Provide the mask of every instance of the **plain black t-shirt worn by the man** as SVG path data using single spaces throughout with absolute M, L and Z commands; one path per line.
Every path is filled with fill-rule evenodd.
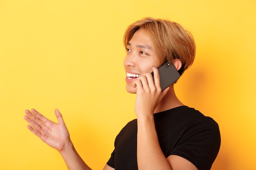
M 198 110 L 180 106 L 154 114 L 162 152 L 167 158 L 178 155 L 198 170 L 210 170 L 220 149 L 220 130 L 216 121 Z M 157 157 L 157 155 L 155 155 Z M 137 119 L 117 135 L 115 150 L 107 164 L 115 170 L 137 170 Z

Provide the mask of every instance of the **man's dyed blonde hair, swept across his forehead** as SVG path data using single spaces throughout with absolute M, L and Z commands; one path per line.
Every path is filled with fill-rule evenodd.
M 149 35 L 153 49 L 160 62 L 180 59 L 182 67 L 180 75 L 189 68 L 195 59 L 195 41 L 191 33 L 180 24 L 169 20 L 143 18 L 136 21 L 124 33 L 124 46 L 126 47 L 132 36 L 139 29 Z

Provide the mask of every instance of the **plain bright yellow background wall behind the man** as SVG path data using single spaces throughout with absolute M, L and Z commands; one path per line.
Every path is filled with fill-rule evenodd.
M 212 170 L 255 170 L 255 0 L 0 0 L 0 170 L 65 170 L 27 129 L 24 110 L 63 114 L 81 157 L 102 169 L 135 118 L 125 90 L 122 38 L 146 16 L 179 22 L 197 44 L 175 85 L 213 117 L 222 144 Z

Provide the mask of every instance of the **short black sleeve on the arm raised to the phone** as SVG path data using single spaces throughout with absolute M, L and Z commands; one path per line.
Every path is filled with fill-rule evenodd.
M 205 117 L 186 129 L 170 155 L 189 160 L 198 170 L 210 170 L 219 149 L 219 126 L 210 117 Z

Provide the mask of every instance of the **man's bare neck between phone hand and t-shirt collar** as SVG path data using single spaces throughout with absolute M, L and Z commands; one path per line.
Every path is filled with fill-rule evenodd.
M 184 104 L 182 104 L 182 102 L 180 102 L 180 100 L 175 95 L 173 84 L 172 84 L 167 94 L 164 96 L 164 98 L 155 108 L 154 113 L 159 113 L 159 112 L 176 108 L 179 106 L 184 106 Z

